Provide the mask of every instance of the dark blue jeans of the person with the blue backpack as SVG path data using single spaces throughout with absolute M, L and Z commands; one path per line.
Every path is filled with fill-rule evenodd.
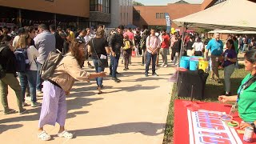
M 37 70 L 29 70 L 25 73 L 18 73 L 19 80 L 22 86 L 22 102 L 25 102 L 26 86 L 30 86 L 31 102 L 37 102 L 36 98 L 36 84 L 37 84 Z

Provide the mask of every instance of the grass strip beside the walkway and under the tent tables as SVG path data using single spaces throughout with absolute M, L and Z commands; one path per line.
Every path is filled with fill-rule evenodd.
M 239 58 L 241 59 L 241 58 Z M 239 62 L 242 63 L 242 62 Z M 225 91 L 224 84 L 224 71 L 219 70 L 220 78 L 222 79 L 222 83 L 218 84 L 218 82 L 209 81 L 210 76 L 208 77 L 206 81 L 206 89 L 205 89 L 205 99 L 202 101 L 204 102 L 218 102 L 218 95 L 222 95 Z M 235 95 L 237 93 L 238 87 L 240 86 L 242 79 L 245 78 L 246 72 L 244 70 L 244 65 L 240 64 L 240 69 L 235 69 L 234 73 L 231 76 L 231 94 Z M 173 127 L 174 127 L 174 100 L 175 99 L 187 99 L 190 98 L 178 98 L 177 95 L 174 92 L 175 90 L 175 84 L 172 90 L 172 97 L 170 100 L 170 107 L 169 107 L 169 114 L 166 121 L 166 131 L 165 136 L 163 140 L 163 144 L 170 144 L 173 143 Z

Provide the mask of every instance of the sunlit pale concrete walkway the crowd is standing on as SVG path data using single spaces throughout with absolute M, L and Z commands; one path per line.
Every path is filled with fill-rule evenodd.
M 86 144 L 162 144 L 172 83 L 173 68 L 158 68 L 159 77 L 144 77 L 141 58 L 133 58 L 130 70 L 119 65 L 120 83 L 109 77 L 103 81 L 104 94 L 97 94 L 94 80 L 76 82 L 66 98 L 66 129 L 75 135 L 58 138 L 58 125 L 45 126 L 49 142 L 37 138 L 41 108 L 30 108 L 29 114 L 3 115 L 0 107 L 0 142 L 11 143 L 86 143 Z M 160 61 L 162 62 L 162 61 Z M 89 70 L 89 69 L 87 69 Z M 92 70 L 90 70 L 92 71 Z M 106 70 L 109 74 L 109 70 Z M 10 108 L 17 110 L 14 91 L 9 90 Z M 38 97 L 42 102 L 42 96 Z

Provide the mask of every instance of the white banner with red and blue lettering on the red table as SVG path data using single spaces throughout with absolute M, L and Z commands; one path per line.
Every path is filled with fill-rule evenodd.
M 226 126 L 225 122 L 218 118 L 221 114 L 226 113 L 208 110 L 194 112 L 187 110 L 190 144 L 242 144 L 234 128 Z

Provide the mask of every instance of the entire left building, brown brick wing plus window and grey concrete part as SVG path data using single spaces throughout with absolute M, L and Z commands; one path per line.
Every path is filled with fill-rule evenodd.
M 132 24 L 133 0 L 0 0 L 2 26 L 85 28 Z

